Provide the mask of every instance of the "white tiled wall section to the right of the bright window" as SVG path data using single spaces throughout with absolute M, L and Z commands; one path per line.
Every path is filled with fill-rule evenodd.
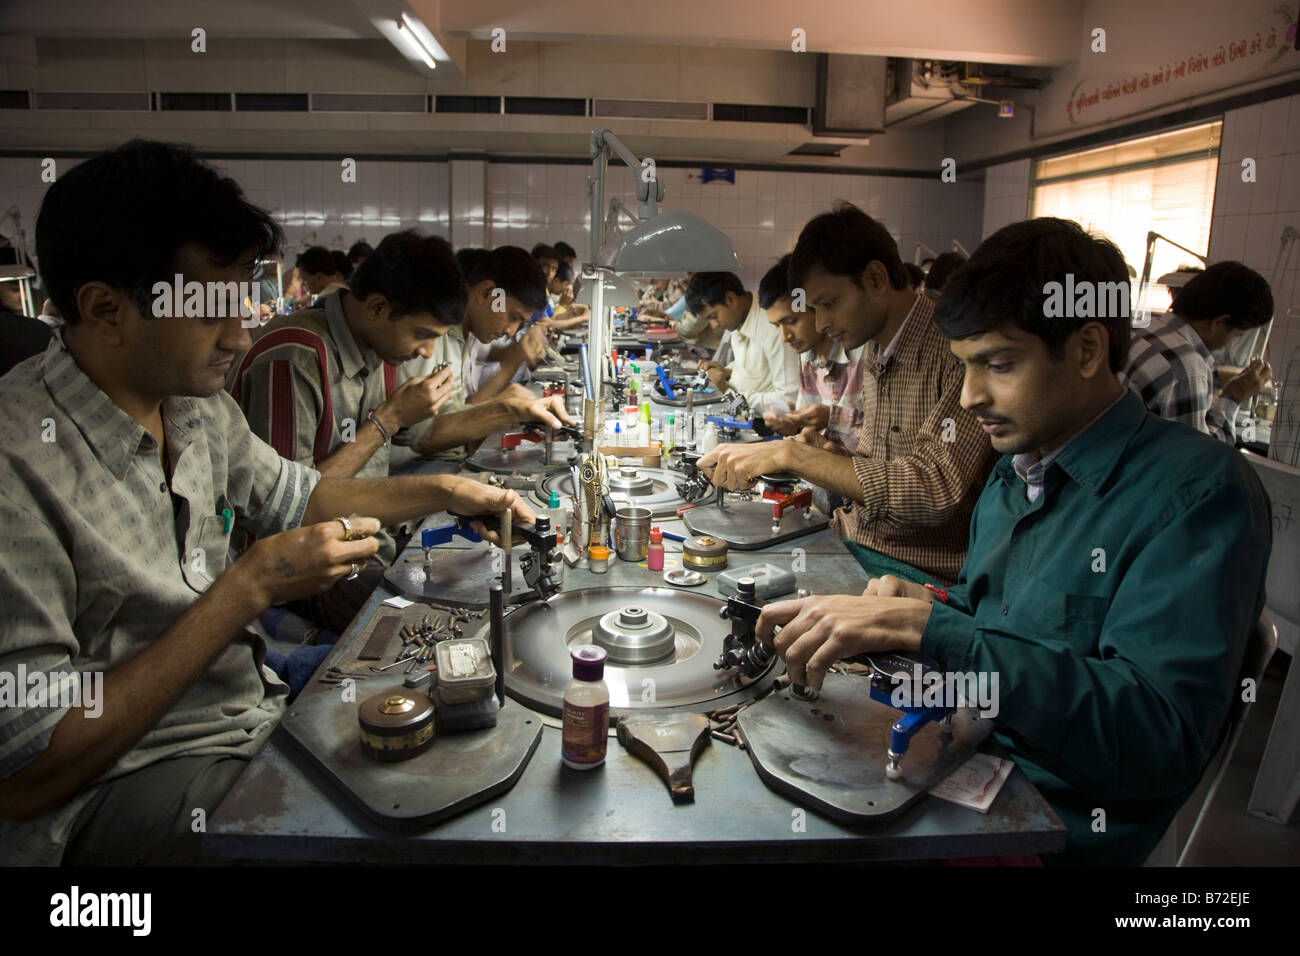
M 1244 159 L 1254 160 L 1254 182 L 1242 182 Z M 1300 300 L 1300 241 L 1292 245 L 1290 264 L 1274 274 L 1287 226 L 1300 229 L 1300 95 L 1223 114 L 1210 221 L 1210 259 L 1245 263 L 1273 286 L 1277 317 L 1268 358 L 1278 378 L 1300 349 L 1300 317 L 1287 316 Z M 1300 315 L 1300 307 L 1294 311 Z

